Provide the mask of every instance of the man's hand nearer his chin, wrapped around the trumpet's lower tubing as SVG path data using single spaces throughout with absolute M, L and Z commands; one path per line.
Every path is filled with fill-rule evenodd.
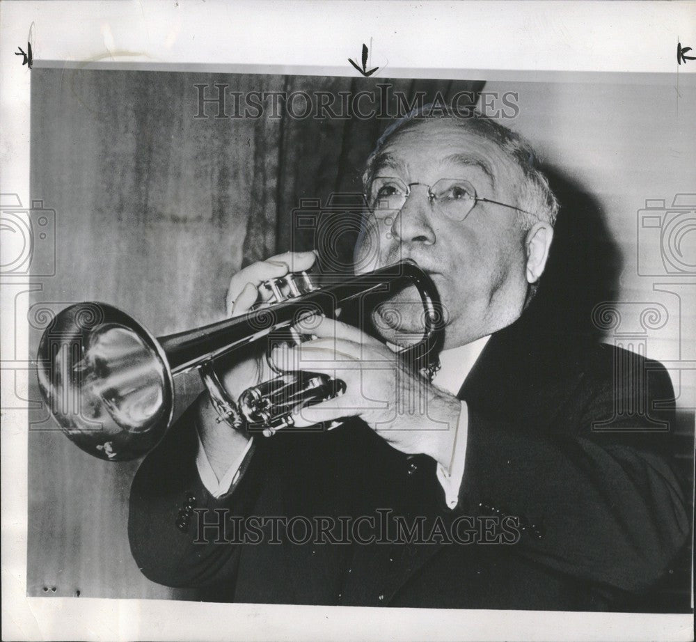
M 296 329 L 317 338 L 283 351 L 277 365 L 346 383 L 342 396 L 296 414 L 297 427 L 359 416 L 403 453 L 425 453 L 449 469 L 461 413 L 457 398 L 412 373 L 395 352 L 358 328 L 327 318 L 317 324 L 312 318 Z

